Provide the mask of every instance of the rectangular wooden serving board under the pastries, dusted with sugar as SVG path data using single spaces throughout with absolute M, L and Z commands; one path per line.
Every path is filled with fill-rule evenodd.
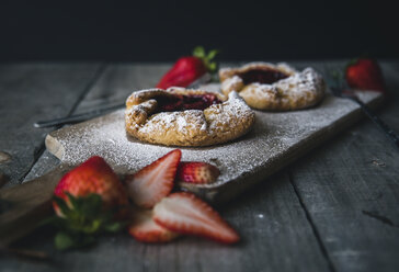
M 206 88 L 215 91 L 218 86 Z M 373 105 L 381 100 L 380 94 L 375 92 L 358 95 Z M 206 161 L 221 171 L 213 184 L 181 186 L 212 202 L 226 201 L 246 188 L 266 180 L 266 177 L 361 117 L 357 104 L 329 94 L 314 109 L 283 113 L 255 111 L 255 114 L 253 129 L 235 141 L 212 147 L 181 148 L 182 160 Z M 102 156 L 122 174 L 135 172 L 175 148 L 150 145 L 127 136 L 124 110 L 55 131 L 47 135 L 46 147 L 70 166 L 94 155 Z

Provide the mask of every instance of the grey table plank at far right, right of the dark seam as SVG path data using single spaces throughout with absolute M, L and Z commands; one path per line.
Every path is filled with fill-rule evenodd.
M 398 70 L 380 116 L 399 132 Z M 368 120 L 292 167 L 292 182 L 337 271 L 399 269 L 399 150 Z

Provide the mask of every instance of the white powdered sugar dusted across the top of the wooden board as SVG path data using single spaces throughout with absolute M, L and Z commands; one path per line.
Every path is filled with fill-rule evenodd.
M 306 111 L 256 111 L 254 128 L 248 135 L 224 145 L 181 148 L 182 160 L 216 163 L 221 171 L 217 184 L 228 182 L 284 156 L 310 134 L 332 125 L 355 107 L 351 101 L 328 95 L 320 106 Z M 184 126 L 184 122 L 180 125 Z M 77 165 L 99 155 L 119 173 L 137 171 L 175 148 L 140 143 L 127 136 L 124 110 L 62 131 L 54 134 L 65 147 L 62 161 Z

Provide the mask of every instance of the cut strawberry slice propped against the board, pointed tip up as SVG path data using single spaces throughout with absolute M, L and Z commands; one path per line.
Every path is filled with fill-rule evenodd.
M 127 192 L 140 207 L 150 208 L 173 189 L 182 151 L 174 149 L 126 178 Z

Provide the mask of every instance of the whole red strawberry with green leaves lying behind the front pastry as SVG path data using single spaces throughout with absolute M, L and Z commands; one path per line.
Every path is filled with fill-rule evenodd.
M 187 87 L 205 72 L 215 72 L 217 64 L 212 60 L 217 53 L 217 50 L 210 50 L 206 54 L 204 47 L 195 47 L 193 56 L 181 57 L 175 61 L 173 67 L 158 82 L 157 88 Z

